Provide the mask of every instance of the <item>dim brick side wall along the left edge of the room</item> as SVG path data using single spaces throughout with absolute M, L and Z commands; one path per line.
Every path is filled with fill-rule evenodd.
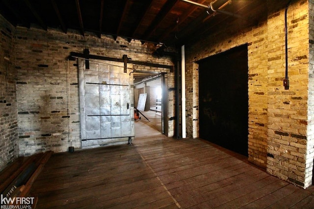
M 0 16 L 0 170 L 18 156 L 14 27 Z

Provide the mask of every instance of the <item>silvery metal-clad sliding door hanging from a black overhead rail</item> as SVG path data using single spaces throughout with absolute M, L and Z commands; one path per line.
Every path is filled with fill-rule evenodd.
M 123 63 L 79 60 L 79 103 L 82 148 L 131 142 L 132 76 Z

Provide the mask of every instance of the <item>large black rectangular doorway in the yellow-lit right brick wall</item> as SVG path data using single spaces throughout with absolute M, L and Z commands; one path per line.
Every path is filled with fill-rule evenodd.
M 200 138 L 248 156 L 247 45 L 199 62 Z

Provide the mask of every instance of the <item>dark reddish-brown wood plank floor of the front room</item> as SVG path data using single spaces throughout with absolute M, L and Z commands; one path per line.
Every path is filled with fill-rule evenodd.
M 38 209 L 314 208 L 305 190 L 202 139 L 164 135 L 52 155 L 34 183 Z

